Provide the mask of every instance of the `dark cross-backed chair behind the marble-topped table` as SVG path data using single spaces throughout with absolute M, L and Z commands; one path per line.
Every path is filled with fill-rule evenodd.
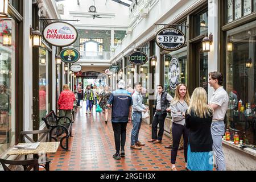
M 32 138 L 30 138 L 28 135 L 38 135 L 38 134 L 42 134 L 42 136 L 36 141 L 36 142 L 42 142 L 42 140 L 46 137 L 46 140 L 45 142 L 48 142 L 49 140 L 49 130 L 35 130 L 35 131 L 22 131 L 21 132 L 22 134 L 22 138 L 23 138 L 23 142 L 26 143 L 26 140 L 25 138 L 27 138 L 31 143 L 35 143 L 35 140 L 33 140 Z M 34 159 L 38 159 L 38 155 L 34 155 L 33 156 Z M 25 159 L 27 159 L 27 155 L 25 155 Z M 42 166 L 46 169 L 46 171 L 49 171 L 49 163 L 51 163 L 51 160 L 49 158 L 46 158 L 43 159 L 43 160 L 40 160 L 38 161 L 39 163 L 39 166 Z M 45 165 L 43 165 L 45 164 Z

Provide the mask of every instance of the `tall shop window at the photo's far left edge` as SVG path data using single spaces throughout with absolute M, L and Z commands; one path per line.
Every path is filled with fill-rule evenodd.
M 9 32 L 10 46 L 3 46 Z M 15 144 L 15 21 L 0 20 L 0 155 Z

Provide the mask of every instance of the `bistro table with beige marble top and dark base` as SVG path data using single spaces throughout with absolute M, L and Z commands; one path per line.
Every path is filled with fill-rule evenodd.
M 18 145 L 22 145 L 24 143 L 19 143 Z M 34 159 L 39 159 L 39 155 L 46 155 L 57 152 L 59 148 L 60 142 L 40 142 L 39 146 L 36 149 L 32 150 L 22 150 L 22 149 L 14 149 L 11 148 L 9 152 L 7 152 L 7 156 L 10 155 L 33 155 Z M 51 162 L 48 158 L 42 158 L 38 160 L 39 166 L 42 166 L 44 164 L 44 167 L 46 171 L 49 171 L 49 163 Z

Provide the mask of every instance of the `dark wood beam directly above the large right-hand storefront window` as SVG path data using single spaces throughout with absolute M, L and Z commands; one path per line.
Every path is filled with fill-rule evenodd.
M 243 16 L 240 19 L 234 20 L 233 22 L 230 22 L 230 23 L 224 25 L 221 28 L 221 30 L 222 31 L 228 31 L 228 30 L 230 30 L 232 28 L 241 26 L 242 24 L 246 24 L 246 23 L 252 22 L 253 20 L 256 20 L 256 11 L 254 11 L 253 13 L 251 13 L 249 15 Z

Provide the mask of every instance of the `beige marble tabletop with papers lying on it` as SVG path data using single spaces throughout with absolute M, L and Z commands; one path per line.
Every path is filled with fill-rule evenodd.
M 19 143 L 18 145 L 23 144 Z M 30 154 L 50 154 L 57 152 L 60 142 L 40 142 L 35 150 L 15 150 L 11 148 L 7 155 L 30 155 Z

